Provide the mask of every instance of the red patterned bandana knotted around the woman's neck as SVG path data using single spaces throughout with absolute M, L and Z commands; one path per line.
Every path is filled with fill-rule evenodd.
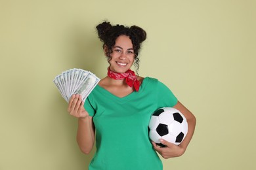
M 125 79 L 128 86 L 134 87 L 136 92 L 139 92 L 140 82 L 137 80 L 134 71 L 131 69 L 127 70 L 125 73 L 115 73 L 114 71 L 110 70 L 110 67 L 108 67 L 108 76 L 115 80 Z

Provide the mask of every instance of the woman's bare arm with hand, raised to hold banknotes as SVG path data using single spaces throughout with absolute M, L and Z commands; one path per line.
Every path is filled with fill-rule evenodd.
M 68 112 L 78 118 L 77 144 L 83 153 L 89 154 L 95 142 L 95 127 L 93 118 L 89 116 L 83 104 L 81 95 L 72 95 L 68 105 Z

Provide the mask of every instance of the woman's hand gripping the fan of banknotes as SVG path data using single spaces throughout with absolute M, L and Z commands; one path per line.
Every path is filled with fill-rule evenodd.
M 70 102 L 68 103 L 68 112 L 70 112 L 70 115 L 75 118 L 86 118 L 89 116 L 88 112 L 83 107 L 83 104 L 84 102 L 81 95 L 72 95 L 72 97 L 70 97 Z

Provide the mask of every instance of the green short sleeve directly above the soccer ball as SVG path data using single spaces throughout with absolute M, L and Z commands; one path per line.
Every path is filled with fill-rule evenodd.
M 177 104 L 178 99 L 173 92 L 165 86 L 162 82 L 158 81 L 158 108 L 160 107 L 173 107 Z

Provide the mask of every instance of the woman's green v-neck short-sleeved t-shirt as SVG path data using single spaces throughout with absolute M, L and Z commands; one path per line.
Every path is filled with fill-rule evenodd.
M 156 109 L 176 104 L 171 90 L 155 78 L 144 78 L 139 92 L 121 98 L 97 85 L 85 101 L 96 129 L 89 169 L 163 169 L 148 137 L 148 122 Z

